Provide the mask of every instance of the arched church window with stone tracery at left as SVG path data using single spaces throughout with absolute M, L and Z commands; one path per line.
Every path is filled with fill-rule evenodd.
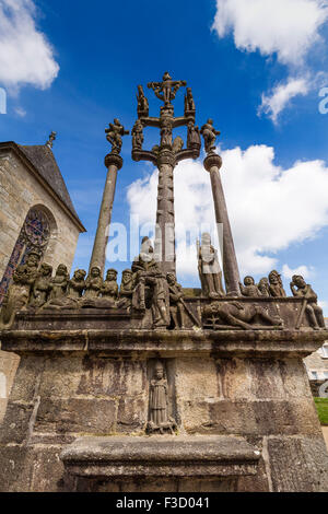
M 44 256 L 50 238 L 50 223 L 47 214 L 38 207 L 33 207 L 25 219 L 14 249 L 9 259 L 0 283 L 0 305 L 8 291 L 12 276 L 17 266 L 25 264 L 26 256 L 36 250 Z

